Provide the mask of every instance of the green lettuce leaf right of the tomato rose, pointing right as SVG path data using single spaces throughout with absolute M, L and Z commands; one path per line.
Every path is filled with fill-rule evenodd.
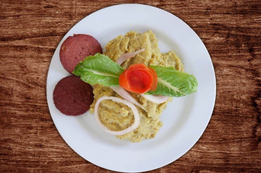
M 197 79 L 188 73 L 175 70 L 173 67 L 150 66 L 158 76 L 158 86 L 150 94 L 182 97 L 197 91 Z

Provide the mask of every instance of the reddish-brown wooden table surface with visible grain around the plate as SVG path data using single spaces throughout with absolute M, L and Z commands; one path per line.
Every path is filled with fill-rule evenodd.
M 0 172 L 113 172 L 81 158 L 50 116 L 46 77 L 78 21 L 130 1 L 0 0 Z M 205 132 L 185 155 L 151 172 L 261 172 L 261 1 L 131 1 L 179 17 L 202 39 L 217 81 Z

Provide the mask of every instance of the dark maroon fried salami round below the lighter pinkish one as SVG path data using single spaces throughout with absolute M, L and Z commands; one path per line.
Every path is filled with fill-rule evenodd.
M 77 76 L 67 76 L 56 84 L 53 99 L 55 107 L 63 114 L 81 115 L 93 102 L 92 87 Z

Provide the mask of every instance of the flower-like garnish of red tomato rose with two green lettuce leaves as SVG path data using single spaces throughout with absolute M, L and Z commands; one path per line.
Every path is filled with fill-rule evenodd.
M 194 93 L 198 86 L 193 75 L 175 70 L 174 67 L 146 67 L 144 64 L 134 64 L 124 71 L 108 56 L 99 53 L 86 57 L 84 61 L 76 65 L 73 74 L 81 76 L 83 81 L 92 85 L 121 86 L 139 94 L 169 97 L 181 97 Z

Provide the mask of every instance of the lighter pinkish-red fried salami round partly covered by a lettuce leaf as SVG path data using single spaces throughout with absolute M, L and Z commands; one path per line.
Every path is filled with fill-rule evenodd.
M 75 66 L 85 57 L 102 54 L 100 43 L 90 35 L 74 34 L 64 40 L 60 49 L 60 61 L 63 68 L 72 74 Z

